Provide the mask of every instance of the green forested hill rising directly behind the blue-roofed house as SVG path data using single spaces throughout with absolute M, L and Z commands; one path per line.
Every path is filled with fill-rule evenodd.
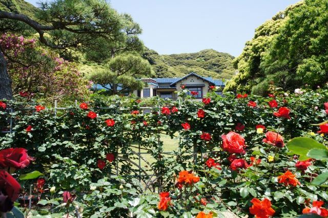
M 230 79 L 236 71 L 232 66 L 232 55 L 213 49 L 171 55 L 159 55 L 154 50 L 146 49 L 143 56 L 152 64 L 158 78 L 182 77 L 195 72 L 201 76 Z

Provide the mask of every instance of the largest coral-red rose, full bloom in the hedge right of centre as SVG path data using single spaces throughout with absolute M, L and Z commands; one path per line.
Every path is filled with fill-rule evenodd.
M 227 135 L 221 136 L 223 140 L 222 148 L 230 154 L 241 154 L 244 152 L 245 139 L 238 133 L 229 132 Z

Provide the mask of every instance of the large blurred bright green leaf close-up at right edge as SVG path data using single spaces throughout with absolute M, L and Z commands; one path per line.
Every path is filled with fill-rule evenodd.
M 293 154 L 300 156 L 300 161 L 309 159 L 310 157 L 307 156 L 308 152 L 313 148 L 327 149 L 323 144 L 306 137 L 296 137 L 289 141 L 286 146 Z

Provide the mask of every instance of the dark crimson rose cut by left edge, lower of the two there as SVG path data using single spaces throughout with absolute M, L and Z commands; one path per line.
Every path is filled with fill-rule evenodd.
M 19 183 L 6 171 L 0 169 L 0 211 L 10 211 L 20 193 Z

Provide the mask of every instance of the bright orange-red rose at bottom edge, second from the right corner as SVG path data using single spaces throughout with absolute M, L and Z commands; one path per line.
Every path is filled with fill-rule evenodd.
M 273 214 L 276 212 L 271 207 L 271 201 L 269 199 L 260 201 L 254 198 L 252 199 L 251 203 L 253 206 L 250 207 L 250 213 L 255 215 L 257 218 L 268 218 L 273 216 Z

